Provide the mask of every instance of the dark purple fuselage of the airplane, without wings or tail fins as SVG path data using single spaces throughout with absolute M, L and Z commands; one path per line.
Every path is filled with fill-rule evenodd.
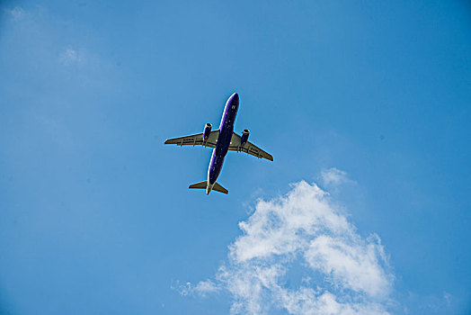
M 206 193 L 209 193 L 218 175 L 221 172 L 222 165 L 224 163 L 224 157 L 226 157 L 227 150 L 231 143 L 232 134 L 234 132 L 234 121 L 236 121 L 237 110 L 239 109 L 239 95 L 232 94 L 227 100 L 224 112 L 222 114 L 221 123 L 219 125 L 219 136 L 216 142 L 216 148 L 213 149 L 211 161 L 208 167 L 208 186 Z

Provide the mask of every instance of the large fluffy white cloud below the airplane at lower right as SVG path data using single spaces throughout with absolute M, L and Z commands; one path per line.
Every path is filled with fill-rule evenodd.
M 214 280 L 181 293 L 228 293 L 232 313 L 388 313 L 394 276 L 380 239 L 361 238 L 317 185 L 301 181 L 259 201 L 239 227 Z

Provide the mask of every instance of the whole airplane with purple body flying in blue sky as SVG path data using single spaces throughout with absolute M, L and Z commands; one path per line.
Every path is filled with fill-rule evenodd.
M 270 154 L 258 148 L 248 141 L 250 130 L 242 131 L 242 136 L 234 132 L 234 121 L 236 121 L 237 110 L 239 109 L 239 95 L 232 94 L 228 99 L 219 124 L 218 130 L 212 130 L 212 125 L 207 123 L 202 133 L 190 136 L 165 140 L 164 144 L 176 144 L 177 146 L 203 146 L 213 148 L 213 153 L 208 167 L 208 179 L 200 183 L 191 184 L 190 189 L 206 189 L 206 194 L 212 190 L 219 193 L 228 193 L 227 189 L 216 182 L 221 172 L 227 151 L 236 151 L 250 154 L 253 157 L 273 160 Z

